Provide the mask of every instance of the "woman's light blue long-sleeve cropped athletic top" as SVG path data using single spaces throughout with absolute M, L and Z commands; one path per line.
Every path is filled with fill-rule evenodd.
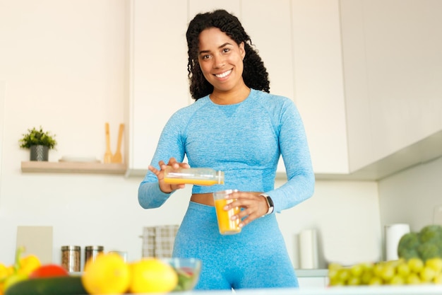
M 287 183 L 275 189 L 282 155 Z M 299 112 L 289 98 L 251 89 L 241 103 L 217 105 L 205 96 L 181 108 L 162 130 L 151 165 L 159 168 L 174 157 L 187 156 L 189 166 L 225 173 L 224 185 L 193 185 L 192 193 L 237 189 L 265 192 L 275 212 L 294 207 L 313 195 L 315 178 Z M 160 190 L 148 171 L 138 188 L 143 208 L 160 207 L 172 195 Z

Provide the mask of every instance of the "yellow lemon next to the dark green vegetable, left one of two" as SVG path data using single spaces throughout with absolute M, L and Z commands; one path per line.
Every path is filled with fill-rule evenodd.
M 124 294 L 131 282 L 129 265 L 117 253 L 102 253 L 88 260 L 81 276 L 88 294 Z

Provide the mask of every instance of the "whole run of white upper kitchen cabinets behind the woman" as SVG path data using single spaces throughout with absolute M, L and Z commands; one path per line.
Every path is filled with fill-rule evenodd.
M 398 1 L 131 0 L 127 174 L 144 175 L 165 122 L 193 101 L 186 28 L 215 8 L 239 17 L 271 92 L 297 104 L 316 178 L 378 180 L 440 156 L 442 4 Z

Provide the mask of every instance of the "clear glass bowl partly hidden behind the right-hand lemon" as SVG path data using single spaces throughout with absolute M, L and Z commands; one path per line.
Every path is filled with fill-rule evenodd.
M 192 290 L 201 272 L 201 260 L 196 258 L 165 258 L 164 261 L 172 265 L 178 274 L 178 285 L 174 291 Z

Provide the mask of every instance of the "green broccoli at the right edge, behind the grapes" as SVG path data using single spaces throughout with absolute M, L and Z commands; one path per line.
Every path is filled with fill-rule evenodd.
M 442 258 L 442 226 L 425 226 L 419 233 L 407 233 L 400 238 L 398 256 L 406 260 Z

